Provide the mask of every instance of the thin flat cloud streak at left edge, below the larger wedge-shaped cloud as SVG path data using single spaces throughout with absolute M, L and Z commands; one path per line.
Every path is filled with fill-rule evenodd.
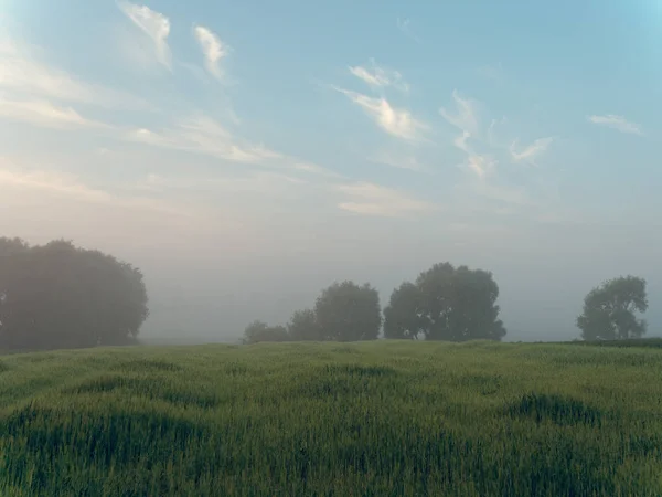
M 58 107 L 46 101 L 6 98 L 0 95 L 0 117 L 55 129 L 108 128 L 87 119 L 71 107 Z

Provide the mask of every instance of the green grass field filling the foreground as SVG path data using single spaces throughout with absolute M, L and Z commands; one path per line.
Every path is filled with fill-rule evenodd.
M 660 496 L 662 349 L 0 357 L 2 496 Z

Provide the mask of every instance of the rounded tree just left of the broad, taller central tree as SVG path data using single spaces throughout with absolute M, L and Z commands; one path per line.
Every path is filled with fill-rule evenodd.
M 380 295 L 367 283 L 334 283 L 318 297 L 314 315 L 323 340 L 375 340 L 380 336 Z

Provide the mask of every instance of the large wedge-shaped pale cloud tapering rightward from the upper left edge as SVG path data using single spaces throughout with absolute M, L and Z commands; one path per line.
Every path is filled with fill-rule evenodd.
M 140 98 L 83 82 L 40 62 L 25 44 L 0 40 L 0 88 L 18 95 L 92 104 L 102 107 L 147 107 Z

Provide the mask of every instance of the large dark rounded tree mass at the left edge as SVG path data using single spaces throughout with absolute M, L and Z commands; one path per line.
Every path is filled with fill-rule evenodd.
M 0 348 L 126 345 L 147 319 L 141 272 L 67 241 L 0 239 Z

